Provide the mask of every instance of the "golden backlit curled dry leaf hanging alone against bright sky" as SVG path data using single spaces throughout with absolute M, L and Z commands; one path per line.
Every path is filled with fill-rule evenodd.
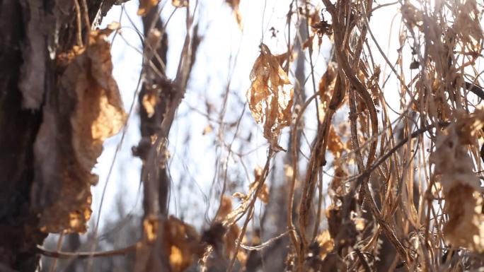
M 278 145 L 281 130 L 291 122 L 294 89 L 286 72 L 264 44 L 250 72 L 252 84 L 247 91 L 247 100 L 255 122 L 264 123 L 264 137 L 274 150 Z

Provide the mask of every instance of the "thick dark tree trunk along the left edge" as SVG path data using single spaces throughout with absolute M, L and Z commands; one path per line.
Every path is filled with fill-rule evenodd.
M 102 2 L 79 0 L 90 24 L 113 4 Z M 55 59 L 76 42 L 74 3 L 0 1 L 0 271 L 35 271 L 40 259 L 37 244 L 47 236 L 38 225 L 41 209 L 33 203 L 33 187 L 42 182 L 34 143 L 45 97 L 57 93 L 57 80 L 65 69 Z M 83 23 L 84 35 L 90 27 Z

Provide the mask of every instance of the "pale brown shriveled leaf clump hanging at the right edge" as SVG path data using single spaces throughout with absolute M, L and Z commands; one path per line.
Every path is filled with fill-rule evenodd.
M 466 146 L 476 143 L 476 132 L 484 126 L 484 108 L 470 115 L 456 112 L 456 116 L 456 123 L 437 137 L 437 148 L 431 156 L 449 215 L 444 238 L 451 247 L 484 252 L 483 196 Z

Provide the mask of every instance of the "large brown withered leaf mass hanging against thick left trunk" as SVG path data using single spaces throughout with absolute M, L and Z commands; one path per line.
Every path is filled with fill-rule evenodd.
M 98 182 L 91 170 L 105 139 L 125 124 L 107 40 L 114 28 L 92 31 L 88 47 L 76 51 L 57 90 L 47 95 L 35 140 L 33 189 L 42 231 L 86 231 L 91 186 Z

